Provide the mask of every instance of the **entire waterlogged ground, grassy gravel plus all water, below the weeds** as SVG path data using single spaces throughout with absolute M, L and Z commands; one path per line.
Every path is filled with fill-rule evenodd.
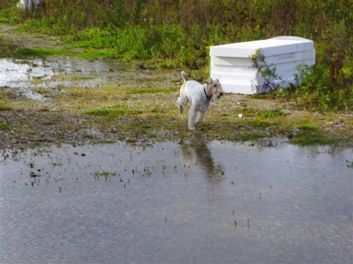
M 1 263 L 353 262 L 352 112 L 227 94 L 190 132 L 187 69 L 13 30 L 0 25 Z

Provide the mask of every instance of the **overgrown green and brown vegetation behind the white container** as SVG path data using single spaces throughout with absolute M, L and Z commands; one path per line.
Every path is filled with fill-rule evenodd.
M 298 65 L 298 86 L 273 96 L 318 110 L 353 107 L 351 0 L 42 0 L 22 11 L 15 0 L 1 2 L 0 22 L 58 35 L 77 54 L 137 60 L 142 68 L 188 68 L 199 80 L 209 74 L 210 45 L 278 35 L 309 38 L 316 65 Z

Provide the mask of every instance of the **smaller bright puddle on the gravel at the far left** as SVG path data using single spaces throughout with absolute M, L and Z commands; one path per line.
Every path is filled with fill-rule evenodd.
M 45 98 L 33 91 L 31 88 L 47 87 L 54 88 L 58 85 L 82 87 L 93 87 L 98 82 L 105 81 L 104 76 L 90 76 L 82 78 L 79 82 L 64 78 L 64 80 L 51 80 L 54 75 L 65 73 L 103 73 L 114 72 L 123 69 L 123 65 L 113 60 L 94 60 L 80 58 L 43 58 L 43 59 L 0 59 L 0 87 L 19 88 L 24 95 L 30 99 L 44 101 Z M 38 84 L 32 83 L 34 80 L 43 80 Z

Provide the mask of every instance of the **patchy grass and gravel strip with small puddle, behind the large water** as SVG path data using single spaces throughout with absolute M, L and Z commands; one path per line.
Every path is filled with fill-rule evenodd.
M 188 108 L 179 114 L 176 105 L 180 72 L 188 69 L 146 70 L 136 62 L 16 52 L 23 48 L 70 50 L 53 36 L 0 25 L 0 148 L 194 137 L 353 146 L 352 112 L 313 112 L 271 95 L 226 94 L 190 132 Z

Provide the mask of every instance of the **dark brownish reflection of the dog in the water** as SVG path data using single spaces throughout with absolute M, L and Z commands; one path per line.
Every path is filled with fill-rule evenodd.
M 184 166 L 185 176 L 189 177 L 193 170 L 201 169 L 207 179 L 217 183 L 222 179 L 222 166 L 216 165 L 212 154 L 204 139 L 194 139 L 181 144 L 181 163 Z

